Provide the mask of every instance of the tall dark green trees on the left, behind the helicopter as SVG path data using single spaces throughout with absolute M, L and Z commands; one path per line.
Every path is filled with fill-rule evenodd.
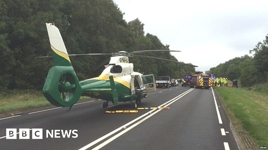
M 0 90 L 41 89 L 53 61 L 45 23 L 55 22 L 69 54 L 169 49 L 157 36 L 144 35 L 144 24 L 126 22 L 112 0 L 0 0 Z M 160 29 L 159 29 L 160 30 Z M 148 56 L 176 60 L 170 53 Z M 108 56 L 77 56 L 71 62 L 80 80 L 98 76 Z M 130 58 L 135 71 L 170 75 L 194 71 L 193 67 L 149 58 Z

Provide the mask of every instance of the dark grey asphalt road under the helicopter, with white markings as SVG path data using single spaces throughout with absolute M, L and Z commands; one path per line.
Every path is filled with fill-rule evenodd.
M 0 149 L 238 149 L 229 120 L 211 89 L 157 89 L 140 107 L 168 106 L 167 110 L 139 110 L 135 114 L 106 114 L 102 100 L 68 108 L 26 113 L 0 119 Z M 217 114 L 217 109 L 219 113 Z M 110 110 L 126 110 L 120 103 Z M 220 116 L 220 117 L 219 117 Z M 43 139 L 6 139 L 6 129 L 42 128 Z M 46 137 L 46 130 L 77 130 L 78 137 Z M 30 131 L 32 134 L 32 131 Z

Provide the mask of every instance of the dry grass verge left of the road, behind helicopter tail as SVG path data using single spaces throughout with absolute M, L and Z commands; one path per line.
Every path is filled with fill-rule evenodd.
M 79 101 L 89 100 L 80 97 Z M 28 110 L 52 106 L 38 90 L 6 90 L 0 92 L 0 114 L 12 111 Z

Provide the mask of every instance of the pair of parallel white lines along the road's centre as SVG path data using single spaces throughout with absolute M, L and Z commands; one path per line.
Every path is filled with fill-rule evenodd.
M 188 94 L 189 92 L 191 92 L 193 90 L 192 89 L 189 89 L 187 90 L 186 92 L 172 98 L 171 100 L 165 102 L 164 104 L 162 105 L 159 105 L 158 107 L 167 107 L 169 105 L 171 105 L 173 102 L 179 100 L 180 98 L 182 98 L 183 96 L 185 96 L 186 94 Z M 114 131 L 111 131 L 110 133 L 100 137 L 99 139 L 85 145 L 84 147 L 80 148 L 79 150 L 85 150 L 85 149 L 88 149 L 90 147 L 92 147 L 93 145 L 101 142 L 102 140 L 106 139 L 107 137 L 111 136 L 111 135 L 114 135 L 115 133 L 119 132 L 120 130 L 123 130 L 119 133 L 117 133 L 116 135 L 110 137 L 108 140 L 104 141 L 103 143 L 99 144 L 98 146 L 96 146 L 95 148 L 93 148 L 92 150 L 97 150 L 97 149 L 100 149 L 102 147 L 104 147 L 105 145 L 107 145 L 108 143 L 110 143 L 111 141 L 115 140 L 117 137 L 123 135 L 124 133 L 128 132 L 129 130 L 131 130 L 132 128 L 136 127 L 137 125 L 139 125 L 140 123 L 142 123 L 143 121 L 147 120 L 148 118 L 152 117 L 153 115 L 155 115 L 156 113 L 160 112 L 162 109 L 153 109 L 145 114 L 143 114 L 142 116 L 139 116 L 137 117 L 136 119 L 130 121 L 129 123 L 126 123 L 124 125 L 122 125 L 121 127 L 115 129 Z M 136 123 L 135 123 L 136 122 Z M 133 124 L 134 123 L 134 124 Z M 132 124 L 132 125 L 131 125 Z M 129 126 L 131 125 L 131 126 Z M 128 127 L 129 126 L 129 127 Z

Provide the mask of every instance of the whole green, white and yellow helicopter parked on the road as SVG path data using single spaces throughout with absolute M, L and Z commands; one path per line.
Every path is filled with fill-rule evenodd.
M 117 53 L 68 55 L 59 29 L 54 23 L 46 23 L 46 27 L 52 56 L 39 58 L 53 57 L 54 66 L 50 68 L 47 74 L 42 91 L 46 99 L 55 106 L 70 107 L 69 109 L 71 109 L 80 96 L 88 96 L 104 100 L 105 102 L 102 103 L 103 108 L 107 108 L 109 101 L 113 105 L 129 101 L 136 108 L 141 99 L 147 97 L 148 92 L 156 90 L 156 84 L 153 74 L 143 75 L 142 73 L 134 72 L 133 63 L 129 63 L 128 57 L 139 56 L 181 63 L 163 58 L 137 55 L 155 51 L 180 52 L 176 50 L 140 50 L 131 53 L 120 51 Z M 79 81 L 69 58 L 69 56 L 79 55 L 111 55 L 111 58 L 109 64 L 105 66 L 106 68 L 98 77 Z

